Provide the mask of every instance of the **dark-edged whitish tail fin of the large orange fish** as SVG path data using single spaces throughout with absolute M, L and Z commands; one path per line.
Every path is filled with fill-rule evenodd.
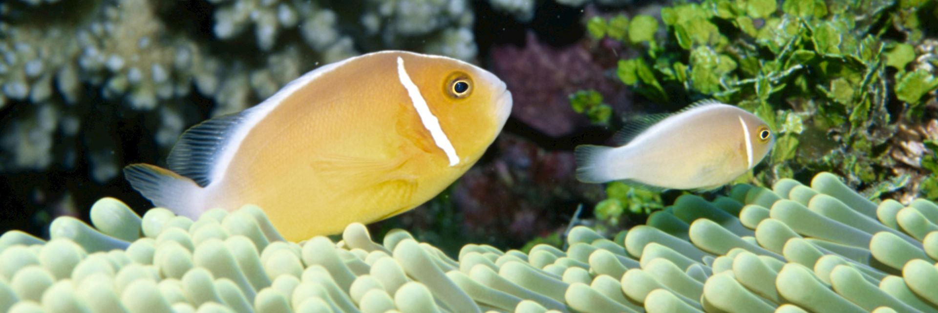
M 153 202 L 153 205 L 170 209 L 177 215 L 189 216 L 193 220 L 201 214 L 199 194 L 202 187 L 187 177 L 143 163 L 125 167 L 124 177 L 130 186 Z

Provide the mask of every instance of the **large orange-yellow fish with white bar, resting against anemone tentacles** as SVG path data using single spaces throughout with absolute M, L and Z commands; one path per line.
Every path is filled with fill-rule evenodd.
M 476 163 L 510 112 L 505 82 L 482 68 L 374 52 L 189 128 L 169 170 L 132 164 L 124 173 L 153 204 L 182 216 L 257 204 L 298 241 L 430 200 Z

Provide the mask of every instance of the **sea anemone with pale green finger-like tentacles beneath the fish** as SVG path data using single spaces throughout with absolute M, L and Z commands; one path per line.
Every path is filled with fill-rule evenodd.
M 458 260 L 395 230 L 352 224 L 334 243 L 285 242 L 246 205 L 199 220 L 143 217 L 105 198 L 48 242 L 0 236 L 0 311 L 20 312 L 935 312 L 938 205 L 869 201 L 830 173 L 810 186 L 693 195 L 566 250 L 463 246 Z

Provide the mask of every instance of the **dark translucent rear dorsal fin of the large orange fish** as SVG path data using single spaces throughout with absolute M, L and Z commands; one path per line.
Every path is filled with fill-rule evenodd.
M 249 111 L 221 115 L 186 130 L 166 159 L 170 171 L 189 177 L 199 186 L 211 183 L 219 156 Z

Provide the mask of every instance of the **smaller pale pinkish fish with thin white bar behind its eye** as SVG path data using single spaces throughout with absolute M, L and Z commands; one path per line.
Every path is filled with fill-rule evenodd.
M 577 179 L 614 180 L 663 189 L 713 189 L 752 170 L 772 150 L 775 136 L 758 116 L 703 100 L 647 129 L 617 134 L 618 147 L 576 148 Z

